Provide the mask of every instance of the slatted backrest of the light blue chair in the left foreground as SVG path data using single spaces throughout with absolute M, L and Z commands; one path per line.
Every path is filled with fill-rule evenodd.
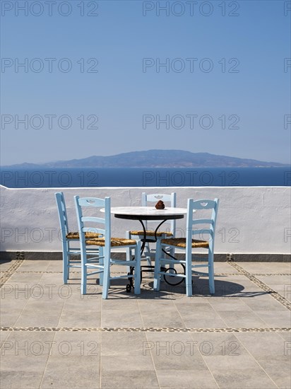
M 110 238 L 111 238 L 110 197 L 105 197 L 105 199 L 98 199 L 97 197 L 74 196 L 74 199 L 75 199 L 76 214 L 78 219 L 78 231 L 80 233 L 81 245 L 85 246 L 85 232 L 94 232 L 94 233 L 102 234 L 102 237 L 105 238 L 105 246 L 110 247 Z M 104 208 L 105 209 L 104 217 L 84 216 L 83 208 L 93 208 L 95 212 L 97 211 L 97 209 Z M 89 223 L 90 226 L 88 226 Z

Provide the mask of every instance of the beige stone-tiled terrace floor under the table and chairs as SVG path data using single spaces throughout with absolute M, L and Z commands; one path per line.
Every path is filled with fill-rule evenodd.
M 215 262 L 215 295 L 196 277 L 191 298 L 148 274 L 108 300 L 61 265 L 1 262 L 1 389 L 291 387 L 290 264 Z

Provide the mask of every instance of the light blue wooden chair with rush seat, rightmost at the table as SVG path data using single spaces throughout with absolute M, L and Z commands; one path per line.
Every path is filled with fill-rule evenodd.
M 167 277 L 182 277 L 186 280 L 186 295 L 192 296 L 192 274 L 208 275 L 210 294 L 215 293 L 214 286 L 214 269 L 213 269 L 213 250 L 214 250 L 214 238 L 215 238 L 215 224 L 218 215 L 218 199 L 208 200 L 202 199 L 194 201 L 194 199 L 188 199 L 187 204 L 187 220 L 186 220 L 186 238 L 169 238 L 162 239 L 157 244 L 155 255 L 155 274 L 154 274 L 154 289 L 160 290 L 160 274 Z M 195 211 L 201 211 L 206 209 L 212 209 L 210 218 L 196 219 L 194 217 Z M 209 212 L 209 211 L 208 211 Z M 195 214 L 196 215 L 196 214 Z M 200 226 L 199 226 L 200 225 Z M 208 236 L 208 240 L 193 239 L 193 236 L 205 237 Z M 186 250 L 184 260 L 165 259 L 162 257 L 163 247 L 172 247 Z M 192 260 L 202 262 L 201 257 L 192 257 L 192 250 L 196 248 L 205 248 L 208 250 L 207 264 L 192 264 Z M 178 274 L 176 271 L 165 272 L 161 269 L 161 266 L 165 262 L 174 264 L 181 264 L 185 269 L 185 273 Z M 198 267 L 208 267 L 208 273 L 196 272 L 194 269 Z

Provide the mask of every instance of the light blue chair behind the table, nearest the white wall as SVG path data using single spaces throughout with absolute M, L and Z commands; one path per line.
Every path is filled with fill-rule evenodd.
M 176 193 L 172 192 L 171 194 L 164 194 L 164 193 L 153 193 L 153 194 L 147 194 L 143 192 L 141 194 L 141 206 L 142 207 L 148 207 L 150 205 L 153 205 L 155 207 L 155 204 L 162 200 L 162 202 L 165 203 L 165 207 L 176 207 Z M 155 226 L 154 224 L 155 223 Z M 165 238 L 174 238 L 175 230 L 176 230 L 176 220 L 169 220 L 165 222 L 162 225 L 162 231 L 157 231 L 155 234 L 155 228 L 158 226 L 159 221 L 143 221 L 143 224 L 145 226 L 146 231 L 146 239 L 153 239 L 157 238 L 157 241 L 160 242 L 161 239 Z M 150 225 L 152 227 L 150 227 Z M 165 228 L 167 226 L 167 228 Z M 137 231 L 126 231 L 126 238 L 131 239 L 131 237 L 138 236 L 138 239 L 144 238 L 144 231 L 143 230 L 137 230 Z M 131 252 L 128 251 L 127 253 L 131 257 Z M 150 243 L 145 243 L 145 249 L 143 250 L 143 256 L 141 260 L 146 260 L 148 262 L 148 266 L 152 266 L 152 260 L 155 258 L 155 248 L 150 248 Z

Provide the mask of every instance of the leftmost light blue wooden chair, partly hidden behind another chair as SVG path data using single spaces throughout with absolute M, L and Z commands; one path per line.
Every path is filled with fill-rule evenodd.
M 66 203 L 63 192 L 57 192 L 54 194 L 57 201 L 57 209 L 59 213 L 59 225 L 61 227 L 61 243 L 63 251 L 63 280 L 64 284 L 68 283 L 69 271 L 71 267 L 81 268 L 81 250 L 80 247 L 73 248 L 72 244 L 79 243 L 79 233 L 70 232 L 68 224 L 68 216 L 66 214 Z M 87 238 L 98 238 L 99 234 L 88 232 Z M 97 255 L 98 249 L 88 250 L 91 255 Z M 72 258 L 74 257 L 74 259 Z

